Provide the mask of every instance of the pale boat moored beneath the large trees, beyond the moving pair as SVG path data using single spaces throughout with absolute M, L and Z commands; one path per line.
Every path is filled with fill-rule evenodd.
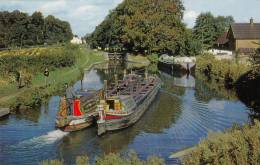
M 173 57 L 163 54 L 159 57 L 159 68 L 166 67 L 172 71 L 192 72 L 196 66 L 195 57 Z

